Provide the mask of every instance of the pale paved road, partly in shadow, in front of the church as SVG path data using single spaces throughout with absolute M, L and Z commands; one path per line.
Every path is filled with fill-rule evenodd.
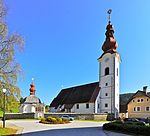
M 19 126 L 23 136 L 127 136 L 104 132 L 101 122 L 73 121 L 69 124 L 40 124 L 38 120 L 8 120 L 8 126 Z

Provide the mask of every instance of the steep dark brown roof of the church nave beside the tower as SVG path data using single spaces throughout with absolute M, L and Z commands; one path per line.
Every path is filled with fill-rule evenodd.
M 95 102 L 100 91 L 99 82 L 62 89 L 50 104 L 50 107 L 58 107 L 63 104 L 75 104 Z

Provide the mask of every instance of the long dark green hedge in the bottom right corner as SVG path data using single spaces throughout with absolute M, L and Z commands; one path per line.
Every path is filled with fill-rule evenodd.
M 103 125 L 103 129 L 143 136 L 148 136 L 150 134 L 150 126 L 143 126 L 137 123 L 133 124 L 126 124 L 121 122 L 106 123 Z

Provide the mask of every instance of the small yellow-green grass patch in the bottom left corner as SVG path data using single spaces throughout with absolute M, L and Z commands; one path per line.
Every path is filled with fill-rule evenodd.
M 12 128 L 2 128 L 2 127 L 0 126 L 0 135 L 11 135 L 11 136 L 13 136 L 13 135 L 16 134 L 16 132 L 17 132 L 16 129 L 12 129 Z

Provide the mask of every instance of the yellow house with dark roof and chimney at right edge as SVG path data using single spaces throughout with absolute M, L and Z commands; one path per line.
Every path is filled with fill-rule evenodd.
M 150 117 L 150 95 L 147 92 L 147 86 L 133 94 L 127 103 L 127 111 L 129 118 Z

